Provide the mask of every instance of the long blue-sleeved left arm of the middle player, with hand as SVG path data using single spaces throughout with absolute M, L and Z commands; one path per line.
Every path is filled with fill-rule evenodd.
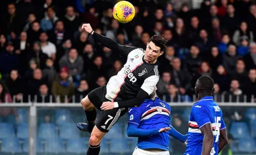
M 127 127 L 127 136 L 128 137 L 145 137 L 145 136 L 151 136 L 152 134 L 167 132 L 167 130 L 170 130 L 170 127 L 166 127 L 162 129 L 138 129 L 136 125 L 129 124 Z

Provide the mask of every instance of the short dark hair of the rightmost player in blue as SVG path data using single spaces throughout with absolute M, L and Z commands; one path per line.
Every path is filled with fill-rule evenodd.
M 210 76 L 201 76 L 198 79 L 198 84 L 196 85 L 199 92 L 213 93 L 214 91 L 214 81 Z

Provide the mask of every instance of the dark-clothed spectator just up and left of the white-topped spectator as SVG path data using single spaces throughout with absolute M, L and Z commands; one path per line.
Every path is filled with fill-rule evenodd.
M 39 36 L 42 34 L 43 30 L 37 21 L 32 23 L 32 27 L 27 30 L 27 36 L 29 38 L 29 44 L 32 45 L 34 42 L 39 41 Z

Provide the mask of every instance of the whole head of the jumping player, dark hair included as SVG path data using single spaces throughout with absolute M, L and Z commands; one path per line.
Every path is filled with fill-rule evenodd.
M 155 63 L 158 56 L 162 55 L 166 49 L 167 40 L 161 35 L 154 35 L 147 43 L 145 51 L 145 60 L 147 63 Z

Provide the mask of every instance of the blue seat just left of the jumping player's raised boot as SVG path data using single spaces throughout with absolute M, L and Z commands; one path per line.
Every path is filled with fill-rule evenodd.
M 59 137 L 63 139 L 71 139 L 80 137 L 80 131 L 75 123 L 63 123 L 60 125 Z

